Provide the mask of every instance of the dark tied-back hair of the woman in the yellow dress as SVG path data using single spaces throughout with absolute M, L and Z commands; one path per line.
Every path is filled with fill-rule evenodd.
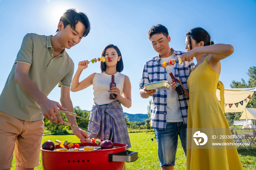
M 211 41 L 211 35 L 208 31 L 204 30 L 204 28 L 196 27 L 190 30 L 186 37 L 189 40 L 189 47 L 192 50 L 191 37 L 196 41 L 196 43 L 204 42 L 204 46 L 214 45 L 214 42 Z

